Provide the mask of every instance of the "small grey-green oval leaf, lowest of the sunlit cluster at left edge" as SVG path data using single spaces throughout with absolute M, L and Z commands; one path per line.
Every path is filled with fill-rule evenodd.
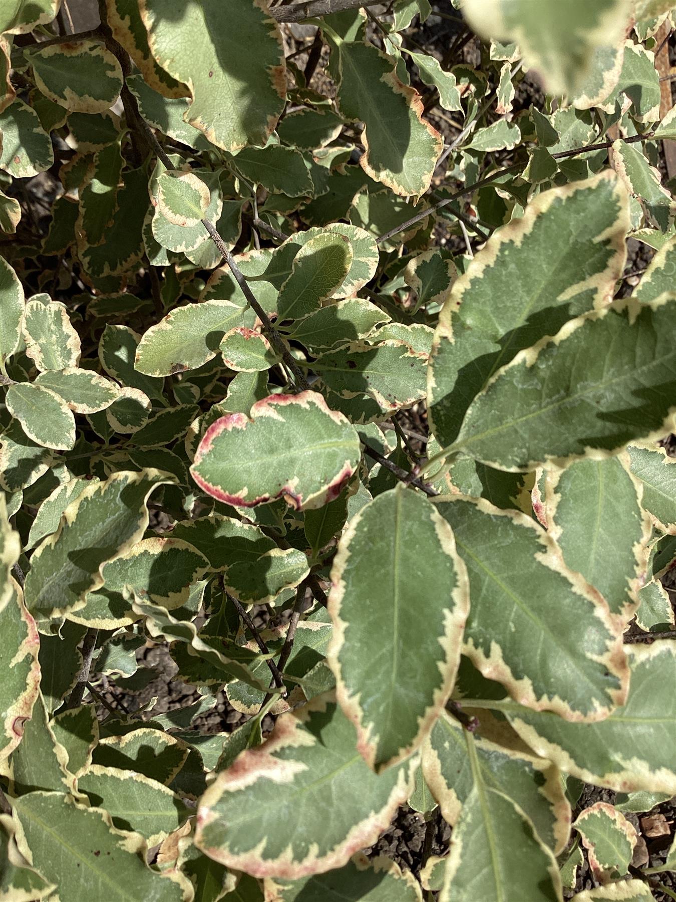
M 25 434 L 38 445 L 57 451 L 70 451 L 75 445 L 75 418 L 56 391 L 33 382 L 18 382 L 10 385 L 5 403 Z

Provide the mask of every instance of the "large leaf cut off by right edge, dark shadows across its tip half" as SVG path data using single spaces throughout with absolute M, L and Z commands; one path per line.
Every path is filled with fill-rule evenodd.
M 617 301 L 571 320 L 498 370 L 472 401 L 452 450 L 528 471 L 661 437 L 676 409 L 675 329 L 676 298 L 667 296 Z

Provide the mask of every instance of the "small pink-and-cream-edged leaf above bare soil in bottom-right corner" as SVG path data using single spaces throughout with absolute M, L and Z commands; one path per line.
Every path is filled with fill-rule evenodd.
M 589 867 L 599 883 L 624 877 L 638 838 L 625 815 L 606 802 L 585 808 L 573 824 L 582 837 Z

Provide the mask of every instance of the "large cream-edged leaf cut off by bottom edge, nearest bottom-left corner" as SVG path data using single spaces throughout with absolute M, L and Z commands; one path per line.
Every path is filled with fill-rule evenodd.
M 57 885 L 59 898 L 181 902 L 190 897 L 186 878 L 151 870 L 139 854 L 146 849 L 142 837 L 115 829 L 102 808 L 85 808 L 61 793 L 32 792 L 14 800 L 14 817 L 19 850 Z

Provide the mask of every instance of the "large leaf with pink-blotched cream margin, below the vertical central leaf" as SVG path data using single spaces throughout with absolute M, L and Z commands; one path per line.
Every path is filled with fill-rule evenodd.
M 354 748 L 352 723 L 323 695 L 282 714 L 263 745 L 217 775 L 199 801 L 196 846 L 255 877 L 339 868 L 388 826 L 416 764 L 374 774 Z

